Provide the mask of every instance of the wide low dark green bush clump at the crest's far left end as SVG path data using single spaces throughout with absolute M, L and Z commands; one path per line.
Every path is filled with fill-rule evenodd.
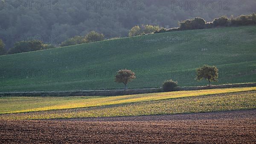
M 15 43 L 13 48 L 9 49 L 8 54 L 41 50 L 42 45 L 43 43 L 39 40 L 20 41 Z

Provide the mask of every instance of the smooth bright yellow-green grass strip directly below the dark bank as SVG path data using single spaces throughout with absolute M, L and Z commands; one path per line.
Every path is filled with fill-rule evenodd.
M 170 98 L 185 98 L 199 95 L 212 95 L 227 92 L 256 90 L 256 87 L 205 89 L 177 92 L 160 92 L 122 96 L 91 96 L 91 97 L 1 97 L 0 114 L 35 112 L 56 109 L 74 109 L 85 107 L 127 104 L 143 101 L 157 101 Z

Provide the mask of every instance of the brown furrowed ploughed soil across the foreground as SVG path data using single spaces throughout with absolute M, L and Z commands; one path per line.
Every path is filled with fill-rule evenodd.
M 256 143 L 256 109 L 0 121 L 0 143 Z

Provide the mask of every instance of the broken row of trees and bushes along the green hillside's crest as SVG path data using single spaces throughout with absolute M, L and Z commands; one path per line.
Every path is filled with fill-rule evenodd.
M 230 27 L 230 26 L 248 26 L 256 25 L 256 14 L 240 15 L 238 17 L 227 18 L 225 16 L 215 18 L 212 22 L 206 22 L 203 18 L 195 17 L 194 19 L 184 20 L 180 22 L 180 27 L 166 29 L 160 26 L 152 25 L 137 25 L 130 29 L 129 36 L 146 35 L 150 33 L 162 33 L 162 32 L 173 32 L 173 31 L 184 31 L 192 29 L 211 29 L 217 27 Z M 89 32 L 85 36 L 75 36 L 63 41 L 60 46 L 72 46 L 82 43 L 90 43 L 95 41 L 105 40 L 105 36 L 95 31 Z M 15 43 L 14 47 L 8 51 L 4 49 L 5 44 L 0 40 L 0 55 L 4 54 L 15 54 L 21 52 L 37 51 L 42 49 L 55 48 L 54 45 L 43 43 L 40 40 L 31 41 L 19 41 Z

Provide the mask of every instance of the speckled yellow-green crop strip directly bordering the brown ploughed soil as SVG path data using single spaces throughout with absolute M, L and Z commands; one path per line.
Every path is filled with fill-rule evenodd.
M 160 115 L 255 109 L 256 91 L 221 93 L 195 97 L 105 105 L 80 109 L 2 114 L 0 119 L 86 118 L 131 115 Z

